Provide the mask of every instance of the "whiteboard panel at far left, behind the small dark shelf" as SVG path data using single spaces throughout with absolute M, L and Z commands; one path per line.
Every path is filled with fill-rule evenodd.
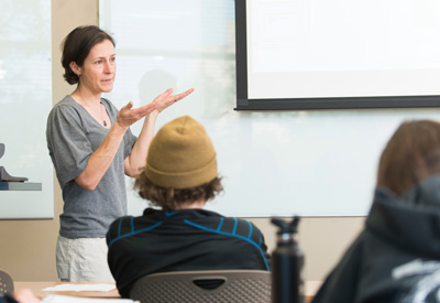
M 46 148 L 52 108 L 51 1 L 0 2 L 0 159 L 12 176 L 42 191 L 0 191 L 0 218 L 53 218 L 53 165 Z

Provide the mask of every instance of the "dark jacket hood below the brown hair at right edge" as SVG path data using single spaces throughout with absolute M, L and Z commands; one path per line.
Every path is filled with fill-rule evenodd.
M 402 198 L 376 188 L 366 229 L 420 257 L 440 256 L 440 175 L 422 181 Z

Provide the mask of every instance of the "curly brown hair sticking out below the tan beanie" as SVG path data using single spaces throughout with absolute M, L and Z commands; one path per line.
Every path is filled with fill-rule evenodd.
M 165 188 L 154 185 L 142 172 L 134 182 L 134 190 L 139 195 L 148 199 L 152 205 L 160 206 L 164 210 L 174 210 L 179 205 L 194 203 L 200 199 L 209 201 L 223 191 L 221 178 L 191 188 Z

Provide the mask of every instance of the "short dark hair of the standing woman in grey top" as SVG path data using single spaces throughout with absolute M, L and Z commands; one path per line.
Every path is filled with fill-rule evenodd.
M 78 26 L 64 39 L 62 43 L 62 65 L 65 72 L 63 76 L 68 84 L 79 82 L 78 75 L 70 68 L 70 63 L 75 62 L 81 67 L 91 47 L 105 40 L 109 40 L 113 46 L 116 45 L 111 35 L 96 25 Z

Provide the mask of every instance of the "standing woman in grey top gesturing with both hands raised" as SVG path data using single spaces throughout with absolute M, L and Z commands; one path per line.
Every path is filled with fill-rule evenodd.
M 193 89 L 119 111 L 101 97 L 113 88 L 114 41 L 98 26 L 79 26 L 63 43 L 64 77 L 76 89 L 52 109 L 47 148 L 63 191 L 56 263 L 62 281 L 112 281 L 107 264 L 106 232 L 127 215 L 124 175 L 145 166 L 157 115 Z M 130 126 L 145 117 L 140 136 Z

